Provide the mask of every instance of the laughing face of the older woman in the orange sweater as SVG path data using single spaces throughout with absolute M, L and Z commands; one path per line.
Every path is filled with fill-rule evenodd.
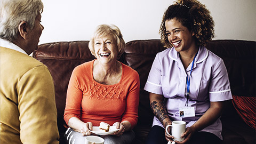
M 113 63 L 117 60 L 117 44 L 113 35 L 100 36 L 94 39 L 94 52 L 102 64 Z

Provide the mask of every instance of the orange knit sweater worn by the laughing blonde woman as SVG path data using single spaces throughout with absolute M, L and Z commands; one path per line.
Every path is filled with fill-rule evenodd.
M 113 125 L 129 121 L 132 128 L 138 121 L 139 74 L 122 64 L 122 77 L 114 85 L 100 84 L 93 79 L 93 61 L 77 66 L 71 75 L 64 119 L 68 124 L 71 117 L 83 122 L 100 122 Z

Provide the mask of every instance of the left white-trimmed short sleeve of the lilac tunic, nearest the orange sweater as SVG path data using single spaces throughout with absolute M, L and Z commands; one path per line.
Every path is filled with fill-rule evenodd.
M 155 94 L 163 94 L 161 84 L 161 71 L 162 63 L 159 61 L 159 53 L 157 53 L 149 72 L 144 90 Z

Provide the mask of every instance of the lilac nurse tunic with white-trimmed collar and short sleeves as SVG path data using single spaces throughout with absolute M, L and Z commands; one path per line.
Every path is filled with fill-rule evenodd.
M 182 120 L 193 125 L 210 108 L 210 101 L 232 99 L 227 69 L 223 60 L 217 55 L 199 47 L 198 54 L 190 76 L 188 106 L 195 107 L 195 117 L 180 117 L 179 108 L 185 107 L 186 77 L 190 75 L 192 62 L 185 69 L 179 53 L 169 48 L 156 55 L 144 89 L 150 93 L 162 94 L 166 99 L 164 105 L 172 121 Z M 154 117 L 153 125 L 162 126 Z M 217 119 L 202 131 L 211 132 L 220 139 L 221 121 Z

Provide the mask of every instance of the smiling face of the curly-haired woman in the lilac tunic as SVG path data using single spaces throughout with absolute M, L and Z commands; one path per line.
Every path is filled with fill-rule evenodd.
M 166 20 L 165 28 L 168 41 L 177 52 L 188 51 L 190 47 L 196 47 L 194 34 L 177 19 Z

